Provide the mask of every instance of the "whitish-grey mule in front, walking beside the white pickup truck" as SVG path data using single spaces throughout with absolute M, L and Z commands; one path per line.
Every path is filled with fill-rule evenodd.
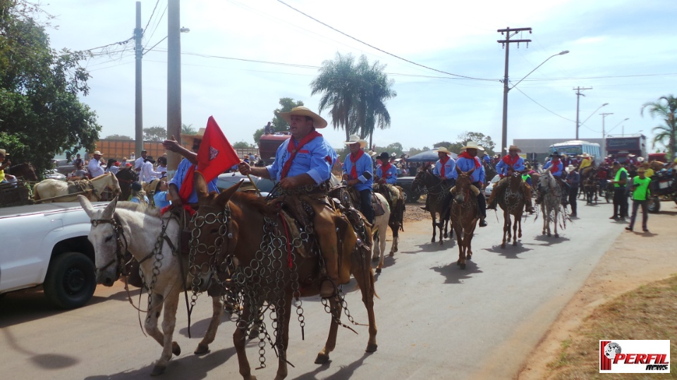
M 171 247 L 178 248 L 181 227 L 175 217 L 162 217 L 159 210 L 147 209 L 138 203 L 118 203 L 115 198 L 101 210 L 92 208 L 92 203 L 84 196 L 78 196 L 78 201 L 92 222 L 89 240 L 94 246 L 96 256 L 97 282 L 104 286 L 113 285 L 124 265 L 122 257 L 125 251 L 129 251 L 140 263 L 145 286 L 152 291 L 144 327 L 163 347 L 152 371 L 152 375 L 159 375 L 166 369 L 172 353 L 181 354 L 181 348 L 172 341 L 172 336 L 184 281 L 181 278 L 180 253 Z M 171 244 L 163 236 L 167 236 Z M 159 239 L 161 243 L 157 252 L 155 246 Z M 188 260 L 184 260 L 183 268 L 188 268 Z M 163 306 L 164 317 L 160 331 L 157 322 Z M 197 345 L 197 355 L 207 353 L 209 343 L 214 341 L 224 311 L 221 297 L 212 296 L 212 307 L 212 319 L 205 337 Z

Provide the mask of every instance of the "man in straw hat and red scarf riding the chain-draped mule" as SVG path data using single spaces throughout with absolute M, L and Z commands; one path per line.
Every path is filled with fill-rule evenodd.
M 303 197 L 304 201 L 317 207 L 322 205 L 322 210 L 326 210 L 327 206 L 324 205 L 323 198 L 310 198 L 307 193 L 322 194 L 328 189 L 331 167 L 337 159 L 334 148 L 331 148 L 327 140 L 316 130 L 327 127 L 327 120 L 306 107 L 295 107 L 290 112 L 278 115 L 288 122 L 291 137 L 277 148 L 272 165 L 251 167 L 248 163 L 240 163 L 238 165 L 240 173 L 276 180 L 283 193 L 289 194 L 287 197 L 283 196 L 283 199 L 290 205 L 300 205 L 298 198 L 306 195 Z M 297 212 L 303 213 L 303 210 Z M 316 232 L 327 231 L 327 227 L 334 228 L 328 223 L 322 215 L 315 213 L 313 224 Z M 326 271 L 326 278 L 322 281 L 320 288 L 320 296 L 328 298 L 336 294 L 338 284 L 345 282 L 338 278 L 338 237 L 336 234 L 327 236 L 316 234 L 316 238 L 320 246 L 319 251 L 324 258 L 324 270 Z

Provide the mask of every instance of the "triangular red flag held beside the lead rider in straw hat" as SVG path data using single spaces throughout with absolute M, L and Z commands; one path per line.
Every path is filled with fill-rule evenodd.
M 200 150 L 197 151 L 197 171 L 202 173 L 206 182 L 209 182 L 237 163 L 240 163 L 238 153 L 235 152 L 231 143 L 224 136 L 224 132 L 216 124 L 214 116 L 209 116 L 205 135 L 202 137 L 202 143 L 200 143 Z M 178 193 L 184 203 L 193 192 L 194 173 L 195 165 L 190 165 Z

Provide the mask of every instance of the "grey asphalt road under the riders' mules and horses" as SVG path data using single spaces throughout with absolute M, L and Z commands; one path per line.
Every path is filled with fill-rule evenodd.
M 416 207 L 414 205 L 413 207 Z M 305 341 L 291 322 L 288 379 L 506 379 L 515 376 L 559 311 L 588 277 L 624 224 L 608 219 L 611 205 L 579 203 L 580 219 L 559 239 L 540 234 L 542 220 L 528 217 L 518 246 L 500 248 L 501 222 L 489 212 L 489 227 L 477 229 L 466 270 L 455 262 L 455 241 L 430 243 L 429 220 L 408 222 L 400 251 L 386 258 L 377 277 L 379 334 L 376 353 L 367 354 L 367 328 L 358 335 L 339 328 L 327 365 L 315 365 L 324 345 L 329 315 L 319 298 L 304 301 Z M 388 249 L 390 243 L 388 244 Z M 357 322 L 367 315 L 354 281 L 344 286 Z M 138 291 L 135 291 L 138 303 Z M 143 298 L 142 305 L 145 306 Z M 175 341 L 182 353 L 159 379 L 238 379 L 233 348 L 235 324 L 224 317 L 212 352 L 193 355 L 207 329 L 211 302 L 201 296 L 188 338 L 181 307 Z M 40 292 L 0 299 L 0 374 L 3 379 L 148 379 L 160 346 L 142 334 L 138 315 L 122 284 L 99 286 L 84 308 L 55 311 Z M 256 342 L 248 358 L 257 367 Z M 273 379 L 277 360 L 268 347 L 267 367 L 254 371 Z

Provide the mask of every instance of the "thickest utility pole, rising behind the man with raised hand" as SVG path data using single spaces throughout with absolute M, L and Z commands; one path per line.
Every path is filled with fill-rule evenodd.
M 181 144 L 181 15 L 179 0 L 167 2 L 167 137 Z M 176 172 L 181 156 L 167 152 L 167 175 Z

